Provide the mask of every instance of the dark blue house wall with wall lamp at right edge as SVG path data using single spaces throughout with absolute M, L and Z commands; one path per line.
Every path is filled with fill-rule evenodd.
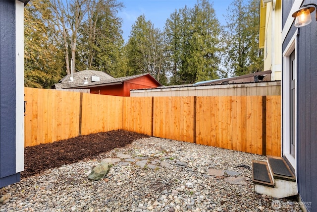
M 293 36 L 297 37 L 297 183 L 301 200 L 310 212 L 317 211 L 317 21 L 315 11 L 312 23 L 296 28 L 291 14 L 300 3 L 317 3 L 317 0 L 283 1 L 283 51 Z M 295 32 L 297 31 L 297 34 Z M 294 35 L 295 34 L 295 35 Z M 284 74 L 283 74 L 284 75 Z M 284 110 L 283 106 L 283 110 Z

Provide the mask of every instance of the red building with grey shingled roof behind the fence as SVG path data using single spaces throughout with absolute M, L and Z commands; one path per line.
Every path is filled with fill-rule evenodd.
M 65 76 L 56 89 L 90 89 L 90 93 L 130 96 L 131 89 L 156 88 L 162 86 L 151 74 L 143 73 L 133 76 L 114 78 L 102 71 L 85 70 Z

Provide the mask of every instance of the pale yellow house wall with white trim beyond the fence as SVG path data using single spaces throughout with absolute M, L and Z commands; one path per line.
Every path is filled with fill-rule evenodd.
M 264 71 L 271 70 L 271 80 L 282 79 L 282 1 L 273 0 L 267 2 L 263 6 L 261 0 L 262 10 L 265 10 L 261 19 L 265 18 L 265 29 L 260 33 L 260 40 L 264 40 Z M 264 21 L 264 20 L 262 20 Z M 261 48 L 261 47 L 260 47 Z

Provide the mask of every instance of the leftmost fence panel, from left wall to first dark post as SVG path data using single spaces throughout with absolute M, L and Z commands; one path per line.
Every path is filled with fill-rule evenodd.
M 25 88 L 25 146 L 78 136 L 79 93 Z

